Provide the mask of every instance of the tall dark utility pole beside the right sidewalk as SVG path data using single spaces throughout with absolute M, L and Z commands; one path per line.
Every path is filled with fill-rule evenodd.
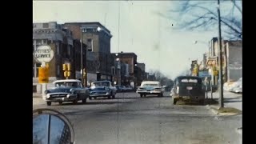
M 222 29 L 221 29 L 221 14 L 220 14 L 220 3 L 218 0 L 218 62 L 219 62 L 219 71 L 218 71 L 218 91 L 219 91 L 219 104 L 220 107 L 224 107 L 224 98 L 223 98 L 223 78 L 222 78 Z

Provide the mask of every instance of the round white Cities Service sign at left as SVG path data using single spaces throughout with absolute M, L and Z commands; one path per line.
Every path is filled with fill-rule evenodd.
M 50 62 L 54 58 L 54 50 L 51 50 L 50 46 L 38 46 L 34 51 L 34 59 L 38 62 Z

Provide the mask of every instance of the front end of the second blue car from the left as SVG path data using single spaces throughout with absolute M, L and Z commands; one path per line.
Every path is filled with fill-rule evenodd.
M 90 97 L 89 99 L 96 99 L 98 97 L 107 97 L 107 98 L 114 98 L 114 94 L 111 93 L 110 88 L 106 86 L 96 86 L 94 89 L 90 89 Z

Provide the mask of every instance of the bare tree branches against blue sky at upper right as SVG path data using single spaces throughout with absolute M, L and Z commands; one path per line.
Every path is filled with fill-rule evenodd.
M 221 22 L 223 34 L 229 39 L 242 39 L 242 1 L 221 1 Z M 178 30 L 210 30 L 218 26 L 216 1 L 190 1 L 178 2 L 170 10 L 170 16 L 158 13 L 159 16 L 172 18 Z

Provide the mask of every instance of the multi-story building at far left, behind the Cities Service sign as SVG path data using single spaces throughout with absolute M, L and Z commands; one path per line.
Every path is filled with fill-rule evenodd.
M 50 82 L 64 78 L 62 64 L 74 63 L 72 32 L 57 22 L 34 23 L 33 52 L 41 45 L 49 45 L 54 51 L 54 58 L 48 63 Z M 41 85 L 38 84 L 38 67 L 40 66 L 41 63 L 33 59 L 33 86 L 38 93 L 41 92 Z M 74 71 L 71 71 L 70 78 L 74 77 Z

